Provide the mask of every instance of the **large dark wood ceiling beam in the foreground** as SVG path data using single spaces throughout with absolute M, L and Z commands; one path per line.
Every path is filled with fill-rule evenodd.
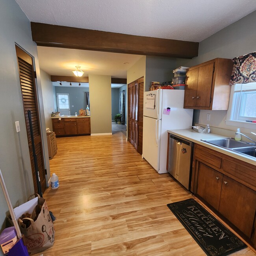
M 32 39 L 38 46 L 96 50 L 173 58 L 198 56 L 197 42 L 126 35 L 31 22 Z

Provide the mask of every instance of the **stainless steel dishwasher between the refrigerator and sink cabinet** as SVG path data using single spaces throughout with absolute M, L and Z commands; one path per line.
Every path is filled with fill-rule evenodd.
M 193 146 L 193 142 L 169 134 L 168 173 L 188 190 L 191 183 Z

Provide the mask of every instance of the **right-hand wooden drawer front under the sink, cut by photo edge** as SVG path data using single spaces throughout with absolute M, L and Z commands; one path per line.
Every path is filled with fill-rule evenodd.
M 256 191 L 256 171 L 255 168 L 235 161 L 223 159 L 223 172 L 234 178 L 238 182 Z

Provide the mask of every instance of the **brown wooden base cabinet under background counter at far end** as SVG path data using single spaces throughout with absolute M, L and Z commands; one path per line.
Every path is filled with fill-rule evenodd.
M 91 119 L 90 117 L 61 118 L 61 120 L 53 118 L 52 128 L 56 137 L 88 135 L 91 134 Z

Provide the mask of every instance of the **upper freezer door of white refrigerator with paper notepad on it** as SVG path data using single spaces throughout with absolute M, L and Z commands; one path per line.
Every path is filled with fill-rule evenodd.
M 161 119 L 162 89 L 146 91 L 143 95 L 143 115 L 154 119 Z

